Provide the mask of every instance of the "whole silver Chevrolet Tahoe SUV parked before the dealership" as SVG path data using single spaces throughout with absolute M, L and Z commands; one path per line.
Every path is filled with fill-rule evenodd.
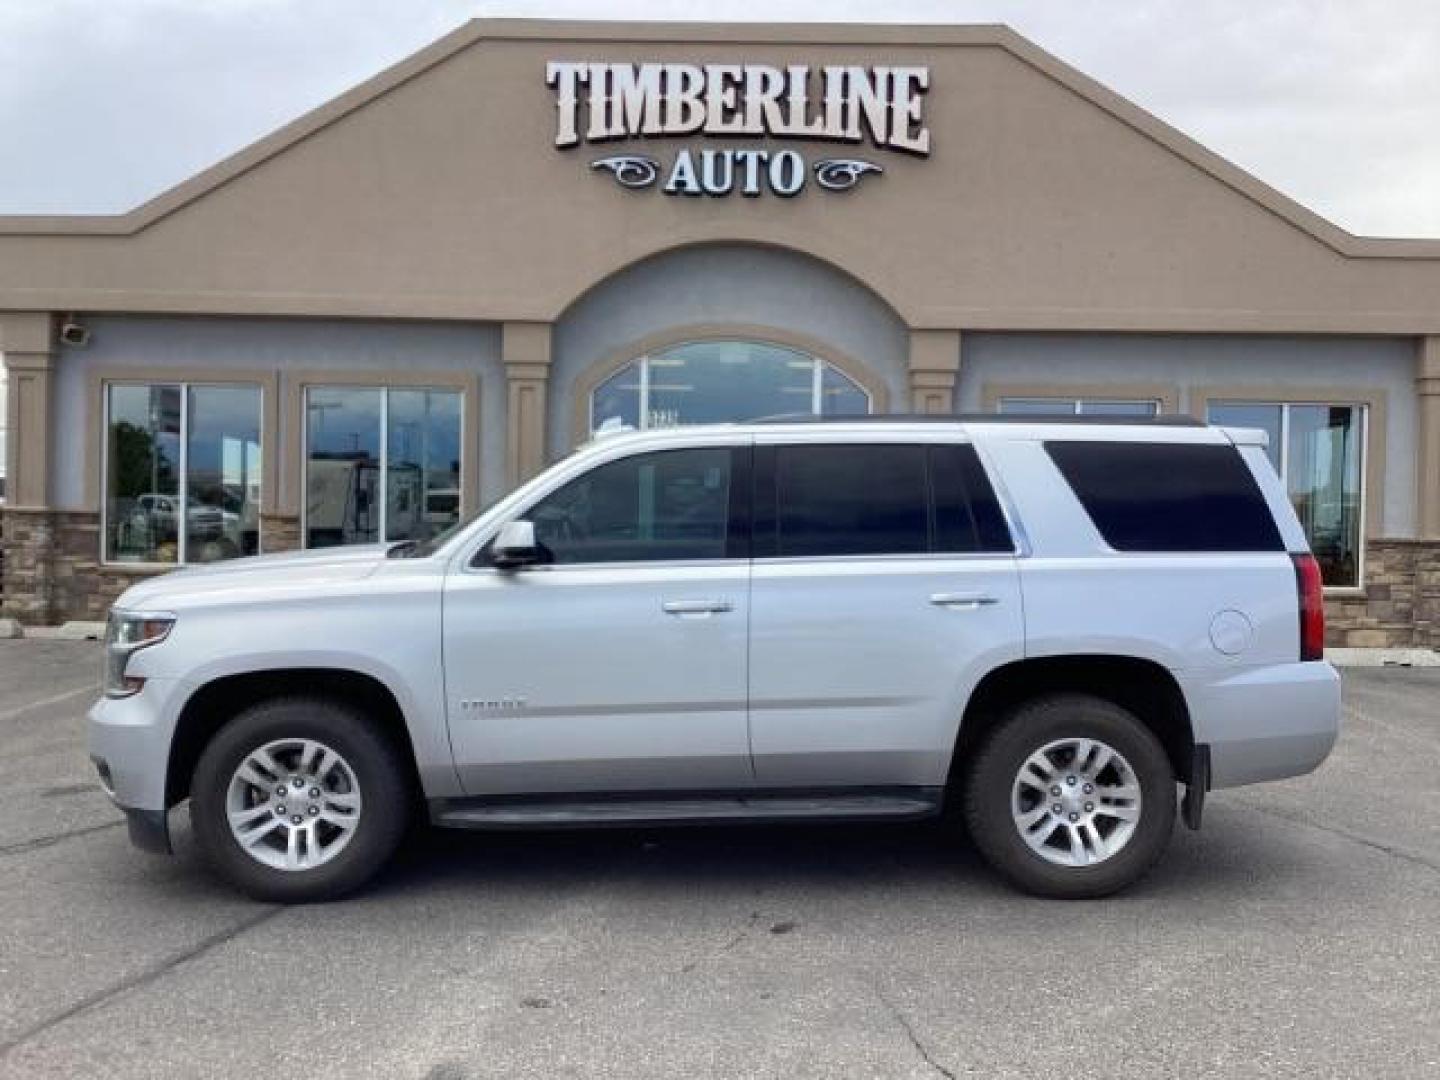
M 138 585 L 91 711 L 143 848 L 334 897 L 461 828 L 907 821 L 1034 893 L 1145 873 L 1339 720 L 1264 435 L 855 419 L 598 439 L 428 544 Z M 1184 788 L 1184 799 L 1179 798 Z

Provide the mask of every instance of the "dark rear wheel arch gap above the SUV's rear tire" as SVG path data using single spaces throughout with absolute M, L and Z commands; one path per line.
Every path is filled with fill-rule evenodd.
M 1011 661 L 981 678 L 960 717 L 950 779 L 1012 708 L 1056 693 L 1093 694 L 1129 710 L 1161 740 L 1175 778 L 1191 776 L 1195 730 L 1185 694 L 1169 668 L 1140 657 L 1071 654 Z

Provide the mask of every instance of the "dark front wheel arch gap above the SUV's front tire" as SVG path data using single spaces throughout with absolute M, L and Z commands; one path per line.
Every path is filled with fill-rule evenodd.
M 190 793 L 190 778 L 215 734 L 261 701 L 324 697 L 361 708 L 400 753 L 412 791 L 420 791 L 415 743 L 395 691 L 377 677 L 338 667 L 266 668 L 219 675 L 200 685 L 180 710 L 166 763 L 166 806 Z

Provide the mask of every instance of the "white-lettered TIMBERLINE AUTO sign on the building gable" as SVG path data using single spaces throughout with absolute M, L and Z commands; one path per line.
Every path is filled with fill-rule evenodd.
M 923 66 L 805 63 L 593 63 L 552 60 L 546 84 L 554 88 L 554 144 L 626 138 L 776 138 L 863 144 L 927 157 Z M 884 167 L 861 157 L 822 157 L 798 150 L 688 147 L 662 163 L 649 154 L 609 154 L 590 161 L 621 187 L 660 183 L 665 194 L 757 197 L 796 196 L 809 181 L 825 192 L 848 192 Z

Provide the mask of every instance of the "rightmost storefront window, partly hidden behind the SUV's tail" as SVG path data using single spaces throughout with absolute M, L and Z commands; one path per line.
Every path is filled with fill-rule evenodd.
M 1365 408 L 1215 402 L 1210 422 L 1260 428 L 1270 435 L 1267 454 L 1290 494 L 1323 582 L 1359 585 Z

